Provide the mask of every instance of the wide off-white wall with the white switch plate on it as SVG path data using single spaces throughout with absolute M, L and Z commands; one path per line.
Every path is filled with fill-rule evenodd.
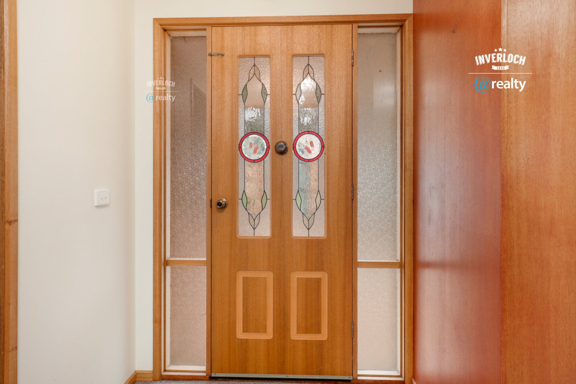
M 123 383 L 135 369 L 134 2 L 17 8 L 18 383 Z M 93 206 L 97 188 L 109 206 Z

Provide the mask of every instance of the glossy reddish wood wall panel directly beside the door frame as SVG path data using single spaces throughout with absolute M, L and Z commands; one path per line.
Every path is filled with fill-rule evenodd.
M 414 1 L 418 384 L 500 382 L 500 100 L 468 74 L 476 55 L 500 47 L 500 9 Z

